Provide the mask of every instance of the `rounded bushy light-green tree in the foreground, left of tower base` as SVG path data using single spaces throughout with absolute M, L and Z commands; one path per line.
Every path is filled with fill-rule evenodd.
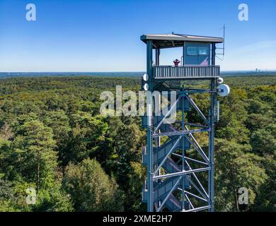
M 64 189 L 71 195 L 76 211 L 120 211 L 124 196 L 113 178 L 96 160 L 69 163 L 64 174 Z

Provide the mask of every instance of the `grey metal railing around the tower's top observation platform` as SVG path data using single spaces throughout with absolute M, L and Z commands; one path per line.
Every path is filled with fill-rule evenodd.
M 219 66 L 152 66 L 154 78 L 211 78 L 220 74 Z

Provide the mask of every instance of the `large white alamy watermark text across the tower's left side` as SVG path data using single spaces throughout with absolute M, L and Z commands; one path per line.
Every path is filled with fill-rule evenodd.
M 100 114 L 109 116 L 166 116 L 165 124 L 176 121 L 176 91 L 134 91 L 122 92 L 122 86 L 116 85 L 115 95 L 111 91 L 100 94 L 104 100 Z M 170 107 L 173 106 L 173 107 Z

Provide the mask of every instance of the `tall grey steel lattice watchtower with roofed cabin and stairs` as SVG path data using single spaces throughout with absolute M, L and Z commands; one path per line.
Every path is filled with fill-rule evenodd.
M 176 91 L 176 102 L 170 102 L 164 114 L 154 111 L 156 105 L 147 100 L 147 114 L 142 126 L 147 129 L 147 145 L 142 162 L 147 167 L 147 180 L 142 191 L 142 201 L 152 211 L 214 211 L 214 122 L 217 95 L 228 95 L 229 87 L 219 78 L 215 65 L 216 44 L 221 37 L 195 35 L 142 35 L 146 43 L 146 74 L 142 88 L 150 91 Z M 183 47 L 181 66 L 161 66 L 160 52 L 164 48 Z M 153 64 L 155 50 L 155 64 Z M 208 89 L 185 88 L 185 80 L 207 80 Z M 209 94 L 209 115 L 197 107 L 192 94 Z M 158 100 L 160 102 L 160 99 Z M 202 124 L 190 123 L 187 114 L 194 108 Z M 180 114 L 173 124 L 166 119 L 173 109 Z M 195 133 L 207 133 L 209 148 L 202 150 Z

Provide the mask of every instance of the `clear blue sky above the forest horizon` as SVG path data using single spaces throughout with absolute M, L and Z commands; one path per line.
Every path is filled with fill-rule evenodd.
M 25 6 L 37 20 L 25 20 Z M 238 20 L 238 4 L 249 21 Z M 144 33 L 222 36 L 222 70 L 276 69 L 275 0 L 0 0 L 0 71 L 144 71 Z M 181 57 L 161 52 L 161 63 Z

